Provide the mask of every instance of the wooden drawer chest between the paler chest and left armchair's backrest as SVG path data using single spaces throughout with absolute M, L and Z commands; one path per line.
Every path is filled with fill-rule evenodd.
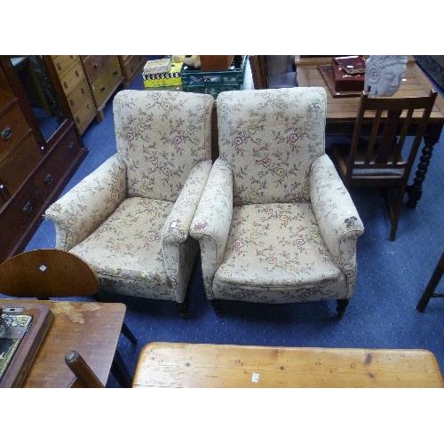
M 103 120 L 104 108 L 108 99 L 114 94 L 118 86 L 123 83 L 122 70 L 120 68 L 117 56 L 80 56 L 82 60 L 84 73 L 92 98 L 96 105 L 99 120 Z

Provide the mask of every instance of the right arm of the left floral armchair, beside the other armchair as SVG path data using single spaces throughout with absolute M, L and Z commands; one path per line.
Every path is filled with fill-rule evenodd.
M 185 242 L 191 221 L 199 203 L 202 191 L 210 175 L 211 161 L 197 163 L 191 170 L 178 199 L 174 203 L 170 215 L 166 218 L 162 229 L 162 243 Z

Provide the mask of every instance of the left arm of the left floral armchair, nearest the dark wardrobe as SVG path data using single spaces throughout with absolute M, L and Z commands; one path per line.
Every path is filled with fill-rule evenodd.
M 46 210 L 56 228 L 56 247 L 70 250 L 91 234 L 126 196 L 126 165 L 116 154 Z

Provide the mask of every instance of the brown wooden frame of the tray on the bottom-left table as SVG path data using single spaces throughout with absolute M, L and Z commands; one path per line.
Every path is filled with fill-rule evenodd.
M 17 314 L 32 316 L 31 327 L 21 339 L 19 348 L 15 351 L 12 361 L 0 381 L 0 387 L 20 387 L 27 376 L 38 347 L 50 327 L 53 314 L 49 305 L 27 304 L 26 302 L 16 302 L 14 299 L 11 299 L 11 304 L 2 302 L 0 311 L 4 308 L 14 308 Z

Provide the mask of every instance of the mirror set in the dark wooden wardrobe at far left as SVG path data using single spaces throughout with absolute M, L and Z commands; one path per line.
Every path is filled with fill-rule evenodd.
M 10 56 L 12 67 L 28 97 L 44 139 L 48 140 L 66 116 L 59 104 L 50 75 L 39 55 Z

